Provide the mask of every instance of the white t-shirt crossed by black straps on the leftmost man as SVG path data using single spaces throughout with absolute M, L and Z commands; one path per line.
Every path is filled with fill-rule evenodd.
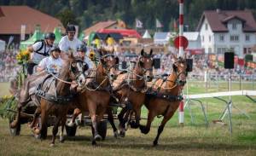
M 32 44 L 32 48 L 34 49 L 34 52 L 31 54 L 31 57 L 32 57 L 32 62 L 34 62 L 34 63 L 36 63 L 36 64 L 38 64 L 38 63 L 39 63 L 40 61 L 42 61 L 45 57 L 47 57 L 47 56 L 44 56 L 44 55 L 43 55 L 44 52 L 49 55 L 49 51 L 50 51 L 50 48 L 51 48 L 51 47 L 48 46 L 48 45 L 46 45 L 46 43 L 44 43 L 43 48 L 40 49 L 40 47 L 42 46 L 42 43 L 43 43 L 43 42 L 39 41 L 39 42 L 37 42 L 37 43 Z M 35 51 L 37 51 L 38 49 L 40 49 L 40 50 L 38 51 L 38 53 L 40 53 L 40 54 L 42 54 L 42 55 L 40 55 L 40 54 L 38 54 L 38 53 L 35 52 Z

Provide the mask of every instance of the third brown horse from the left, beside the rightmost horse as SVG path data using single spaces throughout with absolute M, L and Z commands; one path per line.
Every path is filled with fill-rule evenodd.
M 133 70 L 119 75 L 117 80 L 113 83 L 113 85 L 116 85 L 113 90 L 118 96 L 119 102 L 126 104 L 118 115 L 119 135 L 122 137 L 125 136 L 125 123 L 127 122 L 129 114 L 135 113 L 136 121 L 130 123 L 131 128 L 139 127 L 141 107 L 143 106 L 144 96 L 147 90 L 146 82 L 151 81 L 153 78 L 153 66 L 153 50 L 151 49 L 150 53 L 147 54 L 144 52 L 144 49 L 142 49 L 141 56 Z M 121 79 L 121 83 L 117 83 L 119 79 Z

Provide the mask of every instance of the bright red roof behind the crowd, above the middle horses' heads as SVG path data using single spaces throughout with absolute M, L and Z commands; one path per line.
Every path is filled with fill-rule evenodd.
M 101 29 L 98 32 L 102 33 L 120 33 L 123 37 L 131 37 L 131 38 L 142 38 L 142 36 L 133 29 Z

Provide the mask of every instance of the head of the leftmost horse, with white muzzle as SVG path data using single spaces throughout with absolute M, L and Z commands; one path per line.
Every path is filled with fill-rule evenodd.
M 69 68 L 69 78 L 75 80 L 81 87 L 85 83 L 84 71 L 88 69 L 88 66 L 80 58 L 74 57 L 73 53 L 68 55 L 67 66 Z

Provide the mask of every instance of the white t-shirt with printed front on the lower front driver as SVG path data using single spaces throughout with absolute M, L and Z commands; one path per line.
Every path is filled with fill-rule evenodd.
M 48 72 L 59 73 L 61 71 L 62 59 L 61 57 L 54 59 L 52 56 L 49 56 L 40 61 L 38 66 Z

